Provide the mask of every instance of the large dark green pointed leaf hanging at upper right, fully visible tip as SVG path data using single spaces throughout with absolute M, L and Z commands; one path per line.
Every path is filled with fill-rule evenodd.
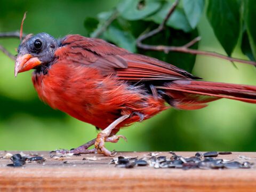
M 207 18 L 226 53 L 233 52 L 241 29 L 239 3 L 235 0 L 210 0 Z

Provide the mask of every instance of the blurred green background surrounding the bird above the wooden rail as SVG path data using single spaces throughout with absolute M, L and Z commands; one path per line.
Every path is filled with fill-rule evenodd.
M 86 35 L 84 20 L 109 11 L 117 0 L 1 1 L 0 32 L 19 30 L 28 11 L 24 33 L 46 32 L 56 38 Z M 198 25 L 199 49 L 225 54 L 203 14 Z M 228 29 L 227 29 L 228 30 Z M 0 39 L 15 54 L 18 39 Z M 247 59 L 239 46 L 233 57 Z M 182 58 L 179 58 L 182 60 Z M 179 63 L 179 60 L 176 61 Z M 175 65 L 175 63 L 173 63 Z M 207 81 L 256 85 L 256 68 L 198 55 L 193 74 Z M 14 62 L 0 52 L 0 150 L 74 148 L 97 135 L 95 127 L 41 102 L 31 83 L 31 71 L 14 78 Z M 127 137 L 109 149 L 141 150 L 256 150 L 256 105 L 221 99 L 201 110 L 170 109 L 119 132 Z

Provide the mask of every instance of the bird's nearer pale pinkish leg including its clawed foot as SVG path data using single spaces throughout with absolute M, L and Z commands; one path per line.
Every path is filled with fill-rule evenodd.
M 111 137 L 109 137 L 109 135 L 111 134 L 111 131 L 115 129 L 115 127 L 119 123 L 123 122 L 128 117 L 130 117 L 130 115 L 123 115 L 119 117 L 113 123 L 111 123 L 106 129 L 98 133 L 96 141 L 94 143 L 94 147 L 95 149 L 97 149 L 97 152 L 99 154 L 103 154 L 106 156 L 114 156 L 108 149 L 105 148 L 105 141 L 117 142 L 119 138 L 124 138 L 126 140 L 126 138 L 123 135 L 112 135 Z

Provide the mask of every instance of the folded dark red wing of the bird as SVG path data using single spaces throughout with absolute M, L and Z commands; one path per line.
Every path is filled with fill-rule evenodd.
M 115 74 L 125 81 L 197 79 L 169 63 L 130 53 L 102 39 L 69 35 L 55 52 L 58 58 L 97 68 L 101 73 Z

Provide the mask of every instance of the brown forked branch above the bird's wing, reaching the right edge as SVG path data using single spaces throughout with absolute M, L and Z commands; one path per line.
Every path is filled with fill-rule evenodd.
M 183 46 L 165 46 L 165 45 L 148 45 L 148 44 L 143 44 L 142 43 L 143 40 L 145 40 L 145 39 L 147 39 L 147 38 L 149 38 L 149 37 L 151 37 L 151 36 L 161 32 L 164 29 L 164 27 L 166 25 L 166 22 L 171 17 L 173 11 L 175 10 L 175 8 L 177 7 L 178 4 L 179 4 L 179 0 L 176 0 L 173 3 L 171 9 L 167 13 L 167 15 L 164 18 L 164 21 L 161 23 L 161 25 L 159 25 L 156 29 L 149 31 L 146 34 L 141 35 L 137 39 L 137 46 L 139 48 L 145 49 L 145 50 L 153 50 L 153 51 L 164 51 L 165 53 L 169 53 L 170 51 L 173 51 L 173 52 L 182 52 L 182 53 L 190 53 L 190 54 L 209 55 L 211 57 L 226 59 L 226 60 L 232 61 L 232 62 L 241 62 L 241 63 L 247 63 L 247 64 L 250 64 L 250 65 L 256 66 L 256 62 L 254 62 L 254 61 L 237 59 L 237 58 L 231 58 L 231 57 L 228 57 L 226 55 L 215 53 L 215 52 L 210 52 L 210 51 L 202 51 L 202 50 L 189 49 L 189 47 L 193 46 L 195 43 L 200 41 L 201 37 L 196 37 L 195 39 L 193 39 L 192 41 L 190 41 L 189 43 L 187 43 L 187 44 L 185 44 Z

